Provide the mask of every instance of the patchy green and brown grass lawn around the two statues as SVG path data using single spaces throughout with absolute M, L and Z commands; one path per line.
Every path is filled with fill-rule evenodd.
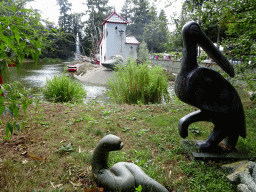
M 237 149 L 255 155 L 256 105 L 243 98 L 248 134 Z M 194 110 L 176 98 L 159 105 L 31 105 L 27 116 L 19 117 L 25 118 L 25 129 L 11 140 L 2 139 L 9 117 L 0 120 L 0 191 L 96 191 L 91 156 L 110 133 L 124 143 L 110 153 L 110 166 L 134 162 L 170 191 L 234 191 L 220 169 L 228 162 L 192 161 L 181 148 L 178 121 Z M 195 123 L 188 139 L 205 139 L 212 128 Z

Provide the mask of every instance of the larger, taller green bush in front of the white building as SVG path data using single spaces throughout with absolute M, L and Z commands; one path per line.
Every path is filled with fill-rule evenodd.
M 148 64 L 137 66 L 135 60 L 117 66 L 114 78 L 109 80 L 110 91 L 107 93 L 117 103 L 148 104 L 159 103 L 163 98 L 168 101 L 168 80 L 160 66 Z

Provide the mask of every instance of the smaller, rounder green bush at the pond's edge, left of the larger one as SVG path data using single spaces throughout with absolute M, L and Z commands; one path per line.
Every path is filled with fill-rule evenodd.
M 54 102 L 81 101 L 86 96 L 83 85 L 64 74 L 47 79 L 42 92 L 47 100 Z

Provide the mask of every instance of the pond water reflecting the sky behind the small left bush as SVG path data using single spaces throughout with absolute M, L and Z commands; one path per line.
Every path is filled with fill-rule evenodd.
M 43 64 L 40 63 L 35 66 L 34 63 L 24 63 L 20 67 L 20 71 L 17 72 L 15 67 L 6 68 L 2 74 L 3 83 L 12 83 L 14 81 L 21 82 L 25 87 L 40 88 L 46 84 L 46 80 L 52 78 L 56 74 L 62 73 L 66 70 L 66 65 L 69 62 L 58 63 L 58 64 Z M 72 77 L 73 80 L 76 80 Z M 85 90 L 87 91 L 87 97 L 85 102 L 91 100 L 99 102 L 107 102 L 108 96 L 105 94 L 106 86 L 95 86 L 88 83 L 82 82 Z

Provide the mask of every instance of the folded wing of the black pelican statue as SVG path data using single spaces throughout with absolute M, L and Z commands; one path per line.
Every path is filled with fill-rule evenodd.
M 235 125 L 245 137 L 243 105 L 235 88 L 218 72 L 199 67 L 188 80 L 189 104 L 202 111 L 216 114 L 230 126 Z M 242 128 L 242 129 L 241 129 Z

